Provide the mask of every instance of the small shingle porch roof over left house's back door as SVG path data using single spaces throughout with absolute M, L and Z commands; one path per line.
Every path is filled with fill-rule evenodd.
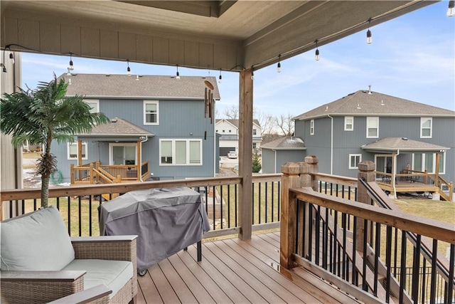
M 81 134 L 84 137 L 89 136 L 154 136 L 151 132 L 132 124 L 128 120 L 121 118 L 112 118 L 107 124 L 97 125 L 92 128 L 92 132 Z

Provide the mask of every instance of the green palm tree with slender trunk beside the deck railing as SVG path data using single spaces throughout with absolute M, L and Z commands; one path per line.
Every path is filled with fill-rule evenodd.
M 97 124 L 109 122 L 102 113 L 91 113 L 90 105 L 82 96 L 67 97 L 68 83 L 54 79 L 40 82 L 35 90 L 23 90 L 5 94 L 0 103 L 0 130 L 12 135 L 15 147 L 27 140 L 43 144 L 44 150 L 38 159 L 36 174 L 41 174 L 41 206 L 48 206 L 50 175 L 57 168 L 57 159 L 50 153 L 50 144 L 73 142 L 77 133 L 86 133 Z

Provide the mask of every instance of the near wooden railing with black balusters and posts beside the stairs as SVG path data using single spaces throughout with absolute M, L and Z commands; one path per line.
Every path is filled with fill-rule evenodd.
M 315 158 L 282 169 L 282 267 L 303 266 L 366 303 L 452 303 L 453 224 L 394 209 L 373 162 L 359 164 L 358 201 L 319 192 Z

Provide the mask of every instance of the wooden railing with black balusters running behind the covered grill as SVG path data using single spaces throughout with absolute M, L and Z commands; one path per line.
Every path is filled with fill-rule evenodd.
M 253 231 L 277 229 L 280 216 L 281 174 L 260 174 L 252 177 Z M 49 189 L 49 204 L 57 206 L 68 226 L 70 236 L 99 234 L 97 208 L 117 194 L 161 187 L 191 187 L 200 192 L 208 214 L 211 231 L 205 237 L 238 234 L 239 184 L 241 178 L 182 179 L 122 184 L 94 184 Z M 40 189 L 2 190 L 1 219 L 18 216 L 40 207 Z

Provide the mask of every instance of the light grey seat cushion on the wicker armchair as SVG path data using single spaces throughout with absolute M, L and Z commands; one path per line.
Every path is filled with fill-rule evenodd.
M 133 263 L 129 261 L 75 259 L 63 271 L 87 271 L 84 289 L 106 284 L 112 289 L 112 298 L 132 277 Z

